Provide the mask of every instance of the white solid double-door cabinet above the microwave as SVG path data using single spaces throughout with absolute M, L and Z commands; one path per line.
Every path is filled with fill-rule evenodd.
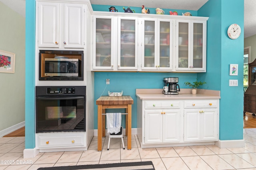
M 84 4 L 38 2 L 38 47 L 84 48 Z

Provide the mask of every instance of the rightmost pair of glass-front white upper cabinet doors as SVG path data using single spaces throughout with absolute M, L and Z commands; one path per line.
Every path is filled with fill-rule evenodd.
M 176 70 L 206 72 L 206 20 L 176 20 Z

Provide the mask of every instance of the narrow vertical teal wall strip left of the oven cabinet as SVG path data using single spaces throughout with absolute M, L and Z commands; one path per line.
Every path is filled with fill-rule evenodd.
M 26 1 L 25 149 L 35 148 L 36 1 Z

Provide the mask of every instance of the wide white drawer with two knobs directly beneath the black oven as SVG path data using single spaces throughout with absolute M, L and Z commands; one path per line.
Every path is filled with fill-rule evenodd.
M 38 136 L 38 147 L 49 148 L 49 147 L 73 147 L 83 146 L 84 135 L 46 135 Z

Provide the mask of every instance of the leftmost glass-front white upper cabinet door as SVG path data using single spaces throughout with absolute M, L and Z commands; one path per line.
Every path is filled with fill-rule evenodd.
M 113 68 L 112 18 L 94 17 L 94 68 Z

